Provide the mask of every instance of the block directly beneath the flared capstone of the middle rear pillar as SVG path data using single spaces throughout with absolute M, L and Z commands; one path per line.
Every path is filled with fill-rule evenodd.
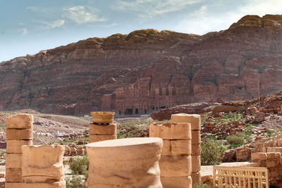
M 90 123 L 89 134 L 116 135 L 116 129 L 116 123 L 111 123 L 110 125 L 97 125 Z

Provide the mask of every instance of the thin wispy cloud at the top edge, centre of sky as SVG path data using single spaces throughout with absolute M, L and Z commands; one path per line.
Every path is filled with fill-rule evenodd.
M 135 11 L 140 18 L 153 18 L 174 11 L 180 11 L 185 6 L 197 4 L 202 0 L 118 0 L 111 8 L 116 11 Z

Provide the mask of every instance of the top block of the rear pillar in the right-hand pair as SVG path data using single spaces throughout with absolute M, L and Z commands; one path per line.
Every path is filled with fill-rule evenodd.
M 191 130 L 201 130 L 201 115 L 187 113 L 172 114 L 171 123 L 190 123 Z

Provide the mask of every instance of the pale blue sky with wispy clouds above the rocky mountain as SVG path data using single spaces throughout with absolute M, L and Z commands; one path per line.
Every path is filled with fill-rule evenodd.
M 204 35 L 282 0 L 0 0 L 0 62 L 90 37 L 157 29 Z

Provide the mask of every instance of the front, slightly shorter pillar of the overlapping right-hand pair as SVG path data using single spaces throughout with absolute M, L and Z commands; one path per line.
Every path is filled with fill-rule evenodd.
M 160 137 L 164 146 L 159 168 L 164 187 L 192 188 L 190 123 L 152 123 L 149 137 Z

